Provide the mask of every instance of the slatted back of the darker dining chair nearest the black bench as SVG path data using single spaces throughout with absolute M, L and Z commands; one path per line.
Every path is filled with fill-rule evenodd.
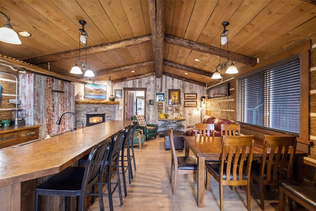
M 289 150 L 291 147 L 291 150 Z M 265 136 L 264 153 L 261 162 L 261 176 L 267 180 L 292 178 L 296 151 L 296 136 Z

